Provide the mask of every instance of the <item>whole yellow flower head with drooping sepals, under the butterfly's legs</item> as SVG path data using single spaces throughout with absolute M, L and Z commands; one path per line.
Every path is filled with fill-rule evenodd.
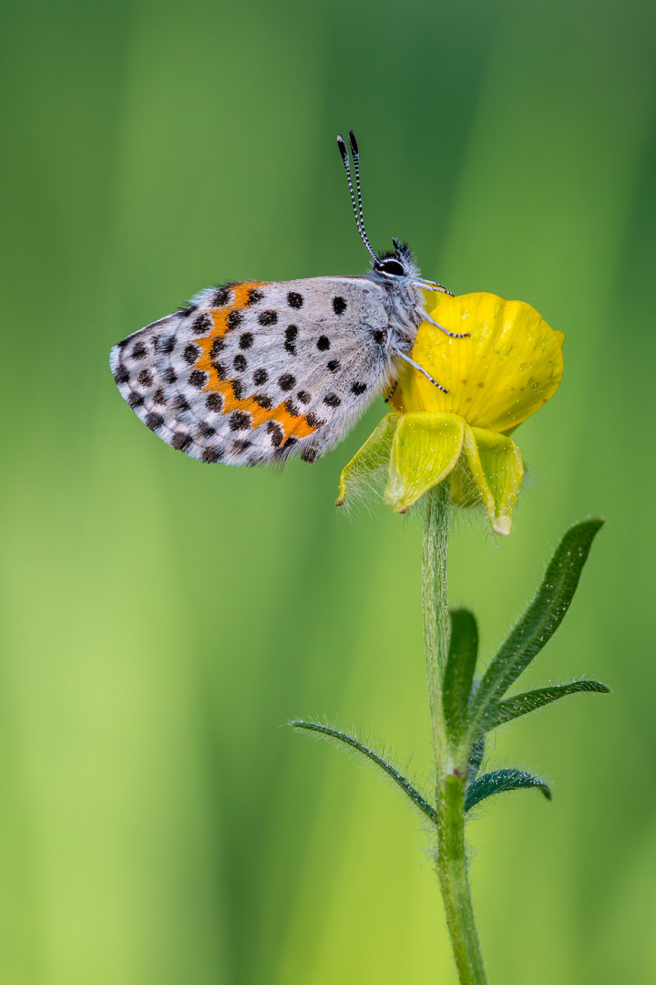
M 385 501 L 404 513 L 451 475 L 458 506 L 482 503 L 493 529 L 508 534 L 521 488 L 521 452 L 508 436 L 558 389 L 562 332 L 530 304 L 488 294 L 440 296 L 431 316 L 451 339 L 424 322 L 412 359 L 447 389 L 443 393 L 404 364 L 383 419 L 341 474 L 339 498 L 387 470 Z

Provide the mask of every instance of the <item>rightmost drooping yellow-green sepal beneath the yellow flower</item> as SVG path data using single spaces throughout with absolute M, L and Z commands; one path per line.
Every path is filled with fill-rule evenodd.
M 510 516 L 524 474 L 519 448 L 505 434 L 480 427 L 465 427 L 463 444 L 468 471 L 493 530 L 498 534 L 509 534 L 512 530 Z M 460 482 L 454 492 L 464 498 L 467 486 L 461 476 L 458 479 Z M 471 505 L 471 502 L 463 502 L 463 505 Z

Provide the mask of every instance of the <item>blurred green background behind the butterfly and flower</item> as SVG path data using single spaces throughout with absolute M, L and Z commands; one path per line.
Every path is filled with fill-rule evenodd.
M 501 735 L 554 802 L 469 826 L 491 979 L 656 981 L 655 34 L 645 0 L 5 5 L 3 983 L 454 985 L 421 822 L 280 727 L 430 763 L 420 522 L 333 506 L 383 405 L 313 467 L 209 467 L 107 366 L 209 284 L 364 270 L 349 127 L 378 248 L 567 333 L 514 533 L 456 525 L 488 655 L 567 525 L 609 521 L 530 683 L 614 693 Z

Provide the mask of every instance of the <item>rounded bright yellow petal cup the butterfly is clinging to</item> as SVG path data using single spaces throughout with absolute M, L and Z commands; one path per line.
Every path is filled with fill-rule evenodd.
M 451 332 L 471 333 L 451 339 L 428 322 L 420 326 L 412 358 L 448 393 L 404 366 L 391 399 L 395 410 L 457 414 L 473 427 L 507 431 L 558 389 L 565 336 L 530 304 L 489 294 L 444 296 L 432 316 Z

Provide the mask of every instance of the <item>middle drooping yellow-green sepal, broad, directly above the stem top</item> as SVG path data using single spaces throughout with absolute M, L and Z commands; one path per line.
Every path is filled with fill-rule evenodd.
M 462 450 L 464 422 L 454 414 L 405 414 L 394 432 L 384 500 L 397 513 L 437 486 Z

